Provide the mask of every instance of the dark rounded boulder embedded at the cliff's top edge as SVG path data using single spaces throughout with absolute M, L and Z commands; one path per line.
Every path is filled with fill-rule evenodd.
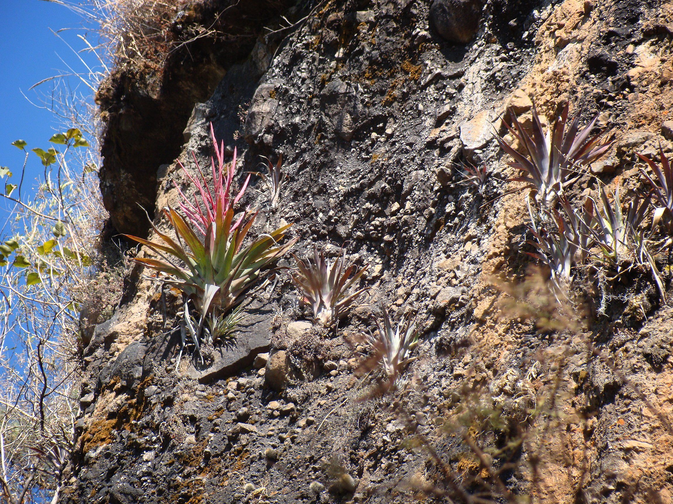
M 467 44 L 479 30 L 481 0 L 434 0 L 430 6 L 430 25 L 442 38 Z

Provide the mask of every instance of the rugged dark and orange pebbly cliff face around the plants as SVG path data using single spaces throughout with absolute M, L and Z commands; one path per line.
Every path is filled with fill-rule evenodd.
M 524 122 L 530 99 L 549 118 L 563 103 L 583 124 L 600 114 L 614 144 L 583 169 L 577 197 L 599 181 L 643 187 L 635 152 L 655 155 L 659 144 L 673 152 L 664 124 L 673 103 L 670 5 L 203 2 L 199 23 L 215 20 L 232 36 L 187 44 L 153 93 L 151 77 L 138 83 L 128 69 L 101 91 L 101 187 L 116 230 L 146 235 L 136 202 L 176 206 L 174 181 L 193 191 L 175 159 L 193 168 L 193 151 L 209 166 L 212 122 L 227 159 L 238 149 L 239 183 L 260 169 L 260 155 L 283 155 L 289 181 L 279 208 L 266 210 L 254 176 L 260 191 L 241 202 L 262 209 L 252 232 L 291 222 L 299 255 L 314 243 L 332 254 L 343 244 L 369 263 L 362 283 L 371 289 L 338 329 L 322 332 L 304 322 L 310 316 L 281 271 L 250 296 L 234 341 L 204 349 L 204 364 L 185 354 L 176 370 L 182 296 L 136 268 L 83 353 L 76 450 L 59 503 L 448 501 L 426 443 L 473 482 L 469 494 L 488 471 L 462 439 L 490 453 L 526 433 L 536 434 L 493 459 L 511 462 L 500 480 L 514 495 L 673 502 L 673 436 L 662 421 L 673 417 L 673 310 L 651 276 L 601 287 L 578 274 L 591 309 L 570 337 L 508 318 L 489 280 L 522 280 L 532 263 L 520 252 L 527 190 L 508 180 L 515 173 L 495 139 L 506 132 L 507 105 Z M 460 183 L 457 165 L 482 162 L 491 174 L 482 192 Z M 169 227 L 160 216 L 155 225 Z M 366 390 L 358 337 L 374 328 L 382 301 L 396 317 L 418 313 L 418 358 L 397 392 L 358 401 Z M 534 416 L 551 388 L 555 415 Z M 481 390 L 481 402 L 469 390 Z M 494 404 L 509 417 L 444 428 Z

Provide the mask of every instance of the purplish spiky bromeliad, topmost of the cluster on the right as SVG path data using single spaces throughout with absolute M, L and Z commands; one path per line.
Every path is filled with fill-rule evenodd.
M 579 179 L 578 169 L 610 148 L 610 142 L 604 140 L 602 134 L 589 136 L 598 116 L 579 130 L 579 116 L 567 126 L 568 110 L 566 104 L 554 126 L 545 132 L 533 106 L 532 132 L 528 134 L 510 108 L 512 126 L 506 126 L 522 146 L 523 153 L 509 146 L 503 138 L 497 138 L 501 149 L 514 159 L 509 165 L 526 173 L 513 180 L 528 183 L 542 208 L 553 208 L 566 187 Z

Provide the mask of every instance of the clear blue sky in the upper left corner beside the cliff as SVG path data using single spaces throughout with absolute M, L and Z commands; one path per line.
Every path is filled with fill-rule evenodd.
M 17 180 L 24 153 L 11 142 L 22 138 L 28 142 L 26 149 L 46 150 L 51 146 L 48 139 L 59 126 L 52 112 L 38 107 L 44 106 L 52 83 L 34 90 L 30 87 L 42 79 L 67 73 L 67 65 L 77 72 L 85 70 L 77 55 L 50 30 L 61 30 L 59 35 L 75 50 L 84 47 L 77 34 L 88 34 L 87 39 L 92 43 L 96 34 L 85 30 L 83 19 L 77 13 L 44 0 L 0 0 L 0 21 L 3 26 L 0 30 L 0 166 L 9 167 L 14 173 L 13 179 Z M 92 54 L 81 53 L 81 56 L 90 65 L 96 64 Z M 69 85 L 92 95 L 76 78 L 70 78 Z M 30 153 L 24 191 L 26 182 L 30 188 L 41 172 L 40 160 Z M 2 210 L 6 208 L 5 203 L 0 203 L 1 222 L 5 221 L 6 214 Z

